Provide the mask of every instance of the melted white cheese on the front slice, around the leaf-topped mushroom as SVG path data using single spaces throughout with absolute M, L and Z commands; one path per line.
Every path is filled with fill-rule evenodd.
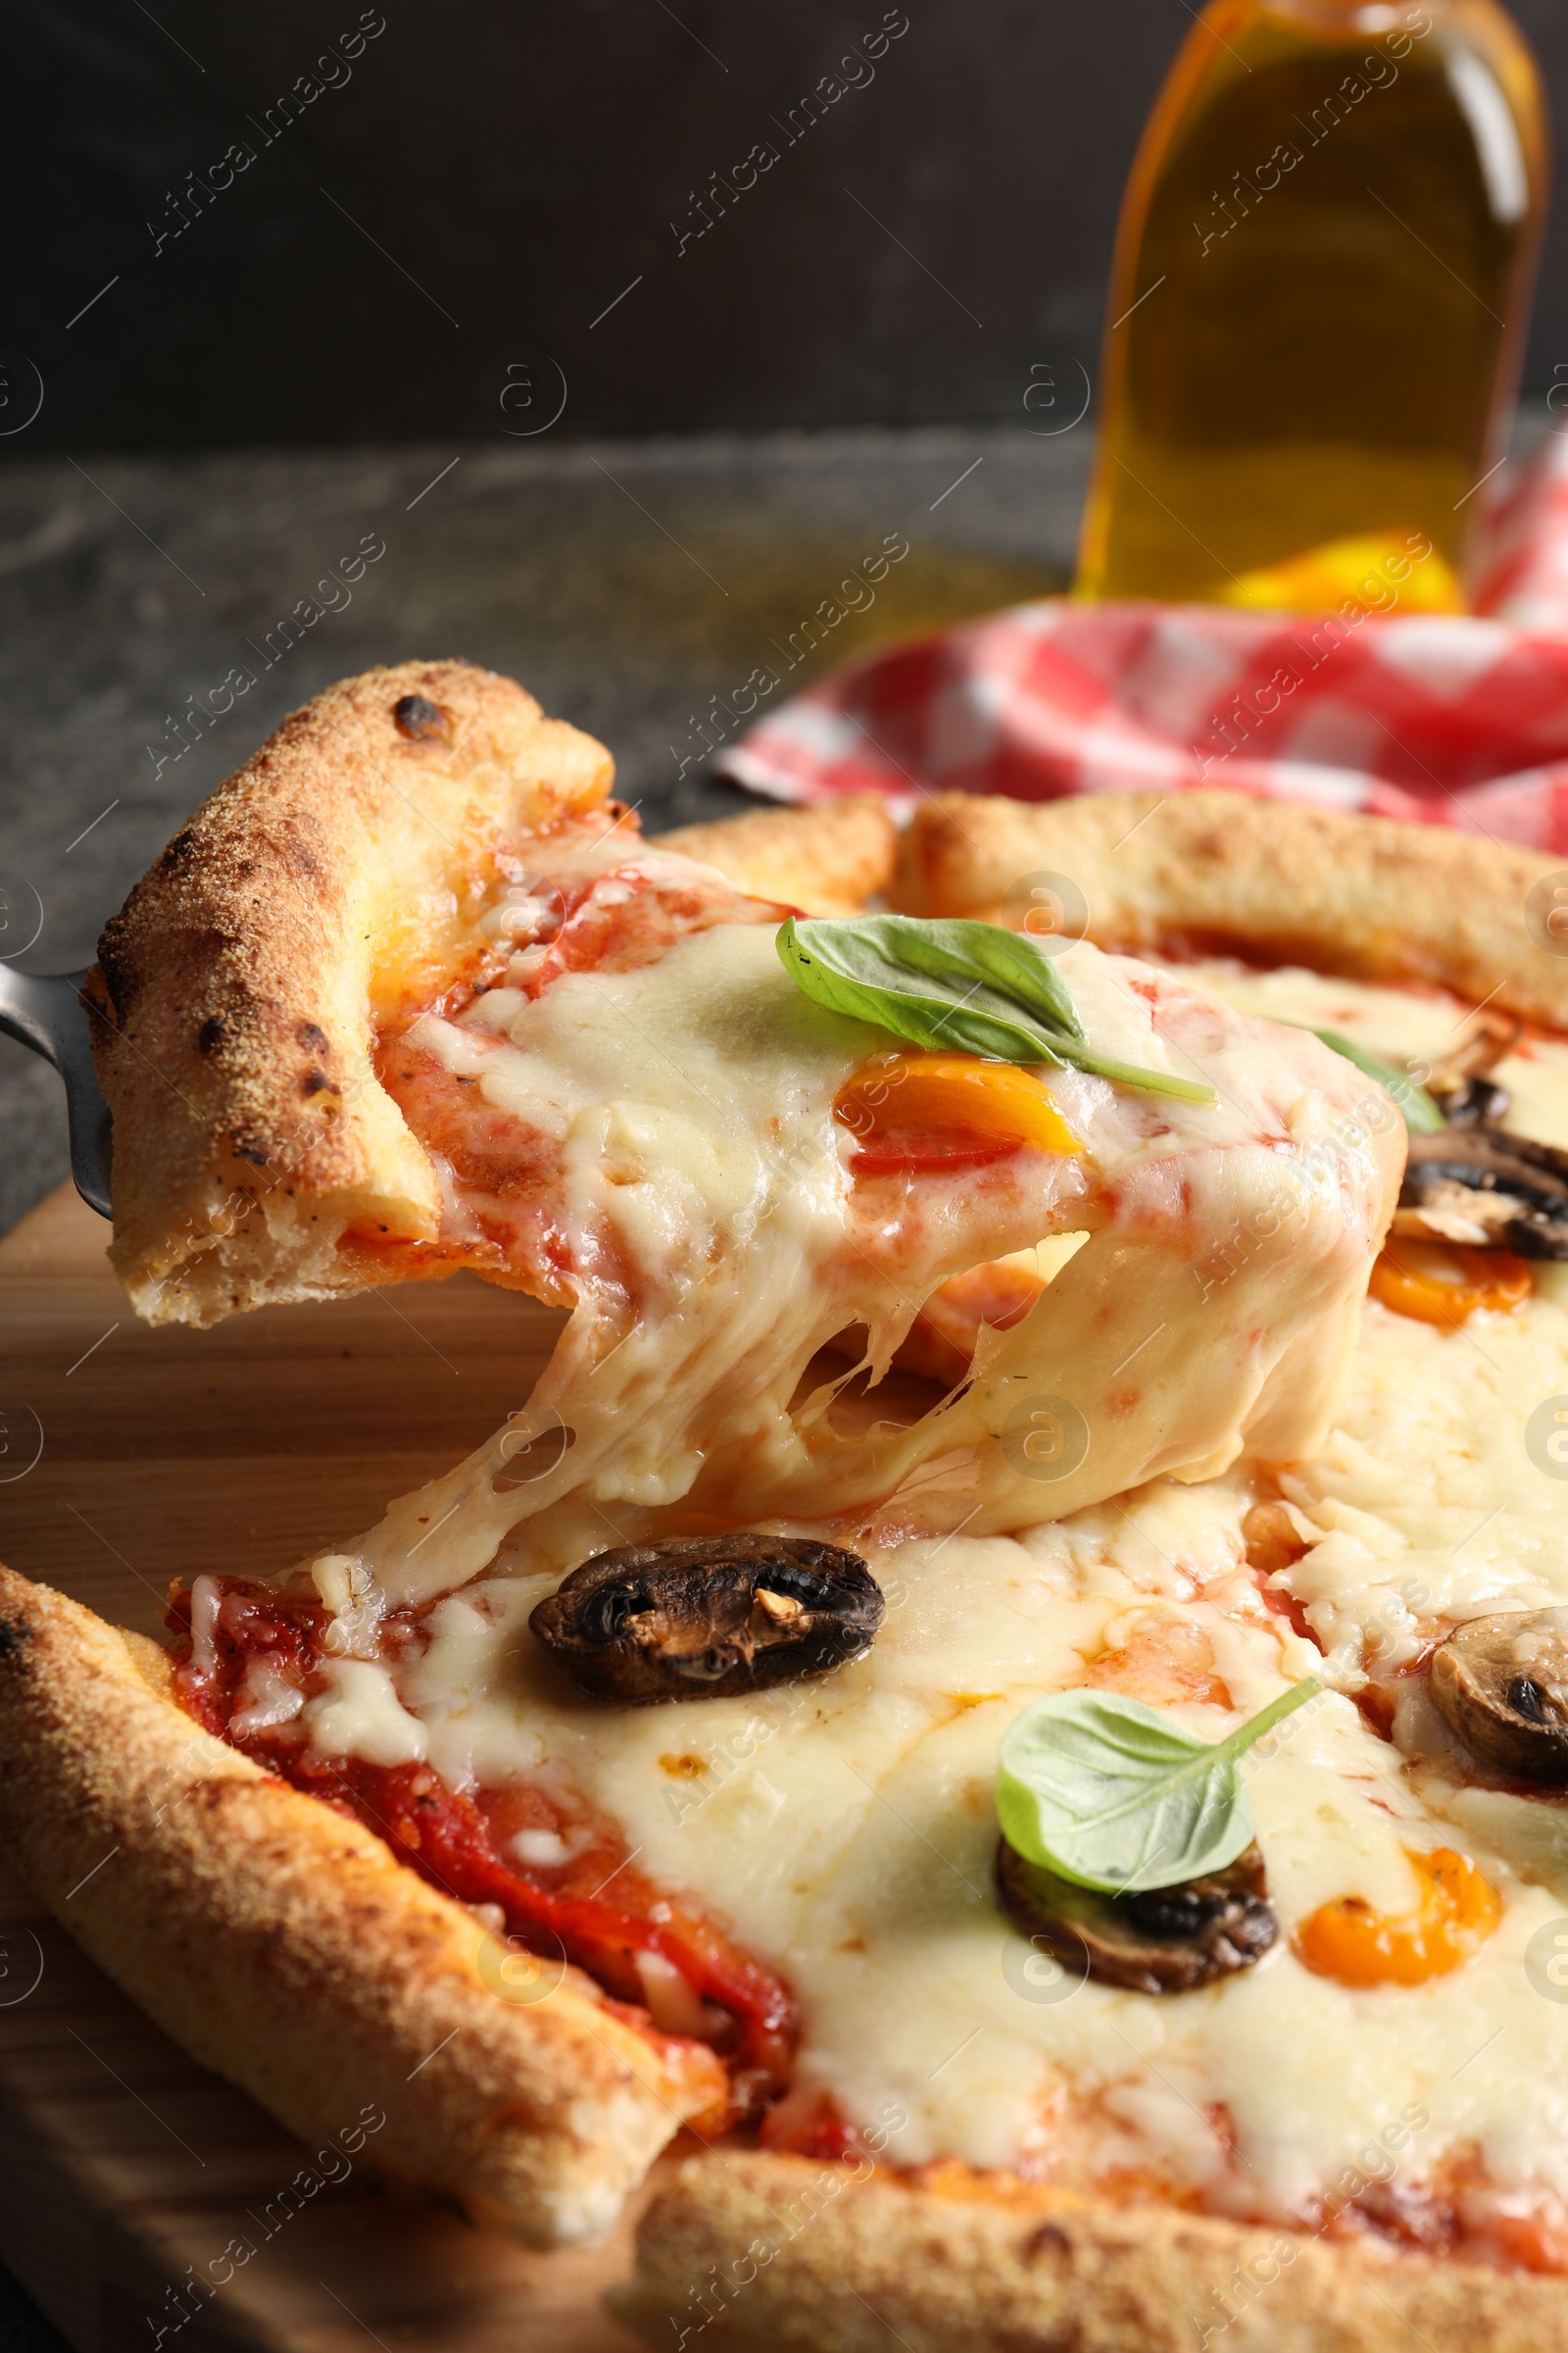
M 1034 1998 L 992 1892 L 1001 1729 L 1088 1666 L 1112 1680 L 1117 1659 L 1159 1657 L 1178 1621 L 1232 1701 L 1175 1704 L 1206 1739 L 1316 1668 L 1244 1569 L 1248 1499 L 1234 1478 L 1159 1482 L 1020 1539 L 872 1553 L 891 1607 L 870 1657 L 752 1699 L 576 1701 L 524 1631 L 555 1579 L 484 1579 L 437 1605 L 402 1701 L 444 1779 L 585 1798 L 639 1868 L 733 1922 L 802 2002 L 799 2080 L 858 2122 L 903 2113 L 903 2162 L 1032 2162 L 1079 2186 L 1131 2167 L 1222 2212 L 1307 2217 L 1415 2106 L 1415 2174 L 1476 2146 L 1500 2188 L 1568 2195 L 1568 2005 L 1521 1991 L 1530 1934 L 1568 1899 L 1568 1852 L 1559 1892 L 1526 1885 L 1509 1840 L 1436 1814 L 1338 1694 L 1248 1765 L 1281 1922 L 1258 1969 L 1164 2000 L 1098 1984 Z M 1469 1967 L 1352 1991 L 1298 1962 L 1288 1934 L 1319 1904 L 1408 1911 L 1408 1849 L 1455 1842 L 1505 1894 Z

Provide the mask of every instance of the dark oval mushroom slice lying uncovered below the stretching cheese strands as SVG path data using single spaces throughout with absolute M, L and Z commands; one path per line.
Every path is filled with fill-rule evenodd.
M 729 1699 L 825 1675 L 872 1645 L 884 1600 L 856 1553 L 799 1537 L 668 1537 L 574 1569 L 529 1626 L 595 1699 Z

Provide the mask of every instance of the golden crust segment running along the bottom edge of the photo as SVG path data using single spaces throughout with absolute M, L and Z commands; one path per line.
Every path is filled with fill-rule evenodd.
M 616 2313 L 705 2353 L 1561 2353 L 1568 2282 L 1067 2195 L 691 2158 Z

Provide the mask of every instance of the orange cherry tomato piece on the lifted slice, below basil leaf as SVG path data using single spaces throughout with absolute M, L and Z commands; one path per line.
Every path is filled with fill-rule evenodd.
M 839 1089 L 832 1115 L 860 1139 L 856 1176 L 1084 1151 L 1037 1078 L 978 1054 L 879 1054 Z

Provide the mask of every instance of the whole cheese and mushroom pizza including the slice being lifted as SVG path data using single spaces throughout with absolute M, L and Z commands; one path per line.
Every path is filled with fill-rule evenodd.
M 2 1574 L 7 1852 L 536 2245 L 675 2144 L 651 2344 L 1556 2346 L 1549 861 L 1222 793 L 644 842 L 609 786 L 374 671 L 106 927 L 141 1315 L 569 1318 L 167 1645 Z

